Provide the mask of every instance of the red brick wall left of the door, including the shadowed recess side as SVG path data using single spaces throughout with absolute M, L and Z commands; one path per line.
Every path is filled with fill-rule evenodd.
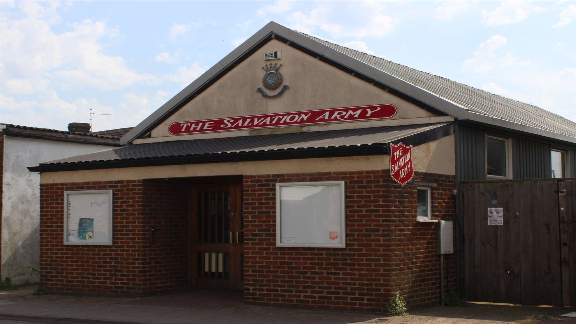
M 114 190 L 113 246 L 67 246 L 65 190 Z M 144 295 L 188 282 L 188 189 L 182 180 L 40 186 L 40 281 L 50 293 Z M 156 229 L 150 244 L 150 228 Z

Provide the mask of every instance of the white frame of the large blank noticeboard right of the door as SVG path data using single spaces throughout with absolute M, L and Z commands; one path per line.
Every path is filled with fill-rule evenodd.
M 340 235 L 342 240 L 339 244 L 319 244 L 319 243 L 282 243 L 282 220 L 281 220 L 281 187 L 289 186 L 334 186 L 340 187 Z M 332 247 L 346 248 L 346 182 L 338 181 L 310 181 L 310 182 L 277 182 L 276 183 L 276 246 L 277 247 Z

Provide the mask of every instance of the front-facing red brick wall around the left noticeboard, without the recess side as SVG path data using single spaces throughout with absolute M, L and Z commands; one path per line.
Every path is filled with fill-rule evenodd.
M 65 190 L 114 190 L 113 246 L 70 246 L 63 240 Z M 40 185 L 40 282 L 50 293 L 142 295 L 142 180 Z

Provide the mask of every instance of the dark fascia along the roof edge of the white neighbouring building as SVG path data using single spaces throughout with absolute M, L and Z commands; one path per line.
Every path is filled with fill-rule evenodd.
M 6 126 L 3 129 L 3 133 L 7 136 L 36 138 L 38 140 L 120 146 L 120 142 L 118 140 L 113 140 L 112 138 L 80 135 L 80 134 L 58 133 L 56 131 L 47 131 L 39 129 L 22 129 L 20 127 Z

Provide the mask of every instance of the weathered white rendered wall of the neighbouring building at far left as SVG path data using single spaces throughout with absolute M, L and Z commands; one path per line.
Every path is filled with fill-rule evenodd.
M 26 167 L 105 149 L 111 146 L 4 138 L 2 280 L 10 277 L 17 285 L 38 282 L 29 266 L 38 269 L 40 262 L 40 174 Z

